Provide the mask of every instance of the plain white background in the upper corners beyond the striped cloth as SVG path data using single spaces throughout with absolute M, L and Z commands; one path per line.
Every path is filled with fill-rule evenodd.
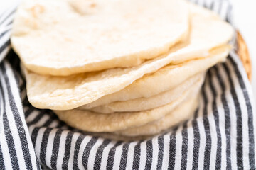
M 14 1 L 0 0 L 0 13 Z M 252 89 L 256 98 L 256 1 L 255 0 L 230 0 L 233 2 L 235 26 L 240 30 L 245 39 L 252 60 Z M 256 101 L 256 100 L 255 100 Z

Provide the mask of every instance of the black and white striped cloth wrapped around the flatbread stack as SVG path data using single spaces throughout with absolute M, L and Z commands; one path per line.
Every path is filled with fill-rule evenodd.
M 196 3 L 230 21 L 229 1 Z M 256 169 L 255 102 L 235 51 L 208 71 L 191 120 L 151 140 L 105 140 L 28 103 L 9 51 L 15 8 L 0 16 L 0 169 Z

